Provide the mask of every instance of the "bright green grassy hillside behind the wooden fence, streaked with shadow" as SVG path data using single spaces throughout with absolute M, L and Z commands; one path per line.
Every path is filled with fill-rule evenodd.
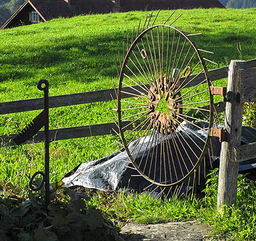
M 162 11 L 162 23 L 171 11 Z M 200 49 L 215 52 L 205 57 L 228 65 L 231 59 L 255 58 L 256 9 L 178 10 L 183 14 L 175 26 L 186 33 L 202 32 L 193 40 Z M 0 32 L 0 101 L 41 97 L 36 83 L 50 82 L 50 95 L 112 88 L 117 84 L 114 60 L 122 42 L 148 12 L 78 16 L 56 19 Z M 154 13 L 156 14 L 156 12 Z M 241 45 L 241 49 L 240 49 Z M 239 46 L 239 47 L 238 47 Z M 239 50 L 238 50 L 239 49 Z M 216 68 L 208 64 L 208 68 Z M 225 84 L 225 80 L 221 82 Z M 50 128 L 112 122 L 113 103 L 63 107 L 50 111 Z M 0 134 L 15 133 L 38 113 L 2 115 Z M 77 164 L 117 150 L 114 136 L 51 143 L 51 176 L 59 180 Z M 0 180 L 27 185 L 28 166 L 42 167 L 42 144 L 1 149 Z M 59 164 L 61 163 L 61 164 Z M 18 175 L 17 175 L 18 174 Z M 26 177 L 26 178 L 24 178 Z

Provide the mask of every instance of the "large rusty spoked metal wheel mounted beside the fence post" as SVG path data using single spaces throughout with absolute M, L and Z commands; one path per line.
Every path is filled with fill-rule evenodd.
M 212 126 L 209 86 L 199 50 L 179 29 L 153 26 L 132 43 L 119 78 L 118 124 L 127 155 L 148 181 L 173 186 L 196 170 Z

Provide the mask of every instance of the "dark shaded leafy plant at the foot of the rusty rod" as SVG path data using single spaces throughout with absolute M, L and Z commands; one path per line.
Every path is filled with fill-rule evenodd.
M 112 222 L 88 201 L 86 194 L 61 187 L 51 193 L 47 208 L 41 193 L 29 192 L 22 203 L 15 196 L 2 198 L 0 234 L 20 241 L 118 240 Z

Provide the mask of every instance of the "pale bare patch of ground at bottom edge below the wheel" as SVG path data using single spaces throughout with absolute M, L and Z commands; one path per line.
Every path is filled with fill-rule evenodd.
M 125 241 L 207 241 L 210 228 L 195 221 L 166 224 L 126 224 L 121 229 Z

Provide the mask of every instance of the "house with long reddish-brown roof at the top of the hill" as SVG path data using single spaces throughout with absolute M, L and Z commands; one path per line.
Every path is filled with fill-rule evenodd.
M 224 8 L 218 0 L 26 0 L 1 29 L 81 14 L 213 7 Z

